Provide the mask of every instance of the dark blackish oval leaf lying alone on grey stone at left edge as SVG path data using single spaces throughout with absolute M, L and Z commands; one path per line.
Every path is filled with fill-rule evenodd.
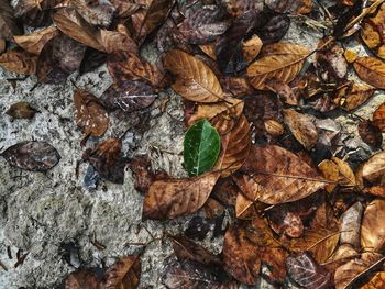
M 1 154 L 6 160 L 21 169 L 46 171 L 59 162 L 56 148 L 45 142 L 21 142 Z

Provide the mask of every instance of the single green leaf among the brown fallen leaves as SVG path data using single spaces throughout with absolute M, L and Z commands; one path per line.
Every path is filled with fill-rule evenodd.
M 193 124 L 184 141 L 184 167 L 189 176 L 210 170 L 218 159 L 220 147 L 219 134 L 209 121 Z

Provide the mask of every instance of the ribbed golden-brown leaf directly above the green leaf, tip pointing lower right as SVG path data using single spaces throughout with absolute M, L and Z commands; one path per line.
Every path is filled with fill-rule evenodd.
M 165 68 L 176 77 L 173 89 L 184 98 L 197 102 L 223 100 L 223 91 L 213 71 L 201 60 L 183 51 L 169 51 Z

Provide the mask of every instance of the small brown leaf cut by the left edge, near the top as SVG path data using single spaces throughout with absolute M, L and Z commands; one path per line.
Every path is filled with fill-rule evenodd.
M 34 75 L 37 57 L 24 51 L 9 51 L 0 55 L 1 67 L 21 75 Z

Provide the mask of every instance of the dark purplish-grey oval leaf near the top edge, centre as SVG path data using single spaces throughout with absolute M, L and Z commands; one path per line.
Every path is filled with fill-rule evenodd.
M 190 44 L 206 44 L 223 34 L 230 26 L 230 21 L 218 7 L 205 7 L 185 19 L 178 27 L 183 40 Z

